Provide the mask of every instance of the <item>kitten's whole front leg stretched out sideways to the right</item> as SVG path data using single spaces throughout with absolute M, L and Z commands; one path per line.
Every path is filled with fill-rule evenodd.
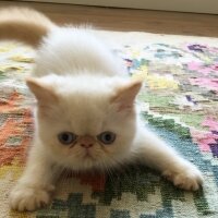
M 203 183 L 202 172 L 182 158 L 173 148 L 147 130 L 141 130 L 135 141 L 135 152 L 143 164 L 159 170 L 174 185 L 196 191 Z

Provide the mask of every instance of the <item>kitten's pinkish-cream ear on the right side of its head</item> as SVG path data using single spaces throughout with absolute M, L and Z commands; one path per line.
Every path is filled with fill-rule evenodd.
M 129 84 L 119 87 L 116 95 L 112 97 L 112 104 L 119 106 L 119 111 L 130 110 L 134 106 L 134 100 L 138 94 L 143 82 L 142 81 L 131 81 Z

